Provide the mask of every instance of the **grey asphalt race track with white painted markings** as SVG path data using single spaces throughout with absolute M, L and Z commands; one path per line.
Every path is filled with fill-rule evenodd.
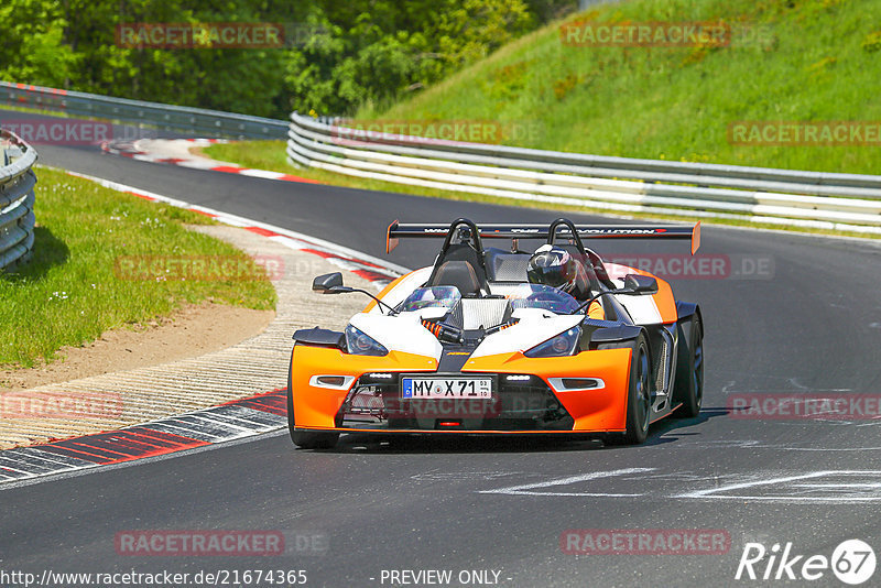
M 193 171 L 87 148 L 39 151 L 43 164 L 373 255 L 384 255 L 384 229 L 394 218 L 466 216 L 479 224 L 558 216 Z M 597 249 L 682 253 L 685 246 Z M 403 243 L 389 259 L 417 266 L 429 263 L 433 251 Z M 705 227 L 701 253 L 766 259 L 773 272 L 753 280 L 672 280 L 677 297 L 698 302 L 704 312 L 704 410 L 699 418 L 653 426 L 643 446 L 535 439 L 389 446 L 349 436 L 336 450 L 304 451 L 286 435 L 268 435 L 0 487 L 0 569 L 37 576 L 45 569 L 303 569 L 308 586 L 330 587 L 390 586 L 383 570 L 393 569 L 449 569 L 450 585 L 459 586 L 460 570 L 486 569 L 499 571 L 498 585 L 512 587 L 728 586 L 781 584 L 735 580 L 748 542 L 769 549 L 792 542 L 793 554 L 829 557 L 842 541 L 859 538 L 878 553 L 881 420 L 742 420 L 727 414 L 726 405 L 740 393 L 878 394 L 881 250 L 861 241 Z M 561 549 L 561 535 L 570 529 L 722 530 L 730 548 L 716 555 L 576 556 Z M 135 557 L 115 549 L 117 533 L 129 530 L 279 530 L 323 538 L 309 553 L 273 557 Z M 755 566 L 760 575 L 764 563 Z M 879 578 L 881 570 L 866 585 L 879 585 Z M 841 586 L 828 569 L 811 584 Z

